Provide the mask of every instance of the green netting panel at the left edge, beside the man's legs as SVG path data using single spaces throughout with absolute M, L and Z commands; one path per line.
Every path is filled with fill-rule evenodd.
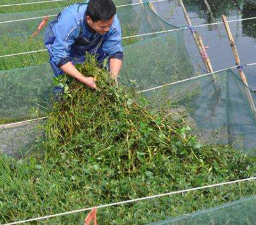
M 21 121 L 45 115 L 52 76 L 48 64 L 0 72 L 0 120 Z

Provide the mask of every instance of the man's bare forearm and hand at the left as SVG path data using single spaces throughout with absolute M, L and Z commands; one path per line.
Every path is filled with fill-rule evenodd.
M 94 78 L 91 76 L 90 77 L 83 76 L 71 62 L 68 62 L 65 65 L 62 65 L 60 68 L 61 68 L 61 70 L 63 70 L 63 72 L 72 76 L 73 78 L 77 79 L 78 81 L 84 83 L 88 87 L 97 89 Z

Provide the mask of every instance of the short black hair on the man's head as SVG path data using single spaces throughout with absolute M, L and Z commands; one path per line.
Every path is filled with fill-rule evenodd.
M 110 20 L 116 14 L 116 6 L 112 0 L 90 0 L 86 9 L 86 16 L 93 22 Z

